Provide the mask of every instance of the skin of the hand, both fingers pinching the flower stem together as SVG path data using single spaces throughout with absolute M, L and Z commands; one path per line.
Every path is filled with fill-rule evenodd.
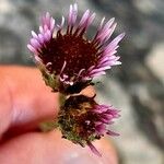
M 87 87 L 81 94 L 92 96 Z M 86 148 L 61 139 L 58 130 L 42 132 L 38 124 L 55 119 L 58 93 L 52 93 L 35 68 L 0 66 L 1 164 L 117 164 L 116 151 L 106 139 L 93 142 L 96 156 Z

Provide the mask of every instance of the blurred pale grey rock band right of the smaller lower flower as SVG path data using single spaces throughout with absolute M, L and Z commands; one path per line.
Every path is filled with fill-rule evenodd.
M 120 162 L 125 164 L 162 164 L 163 153 L 154 147 L 153 142 L 138 126 L 138 115 L 134 112 L 132 96 L 128 94 L 119 81 L 113 78 L 106 79 L 105 77 L 102 80 L 103 84 L 97 87 L 98 102 L 112 104 L 121 110 L 120 118 L 113 126 L 113 129 L 120 133 L 119 137 L 113 138 L 118 148 Z M 149 95 L 144 91 L 144 86 L 141 90 L 143 91 L 140 94 L 143 94 L 147 99 Z M 145 124 L 148 122 L 145 121 Z

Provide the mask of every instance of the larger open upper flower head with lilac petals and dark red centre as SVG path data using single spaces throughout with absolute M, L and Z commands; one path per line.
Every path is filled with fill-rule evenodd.
M 44 77 L 45 81 L 54 90 L 59 91 L 61 84 L 68 86 L 79 82 L 87 83 L 94 77 L 105 74 L 105 70 L 121 63 L 116 52 L 125 33 L 112 40 L 115 19 L 104 23 L 104 17 L 95 36 L 89 39 L 85 33 L 94 17 L 95 13 L 86 10 L 78 23 L 78 4 L 74 3 L 70 5 L 66 31 L 65 17 L 57 24 L 48 12 L 42 16 L 39 33 L 32 31 L 27 48 L 48 77 Z

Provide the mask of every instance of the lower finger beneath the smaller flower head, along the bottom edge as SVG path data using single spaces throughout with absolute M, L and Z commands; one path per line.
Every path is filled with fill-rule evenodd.
M 59 131 L 27 133 L 0 148 L 1 164 L 117 164 L 114 147 L 106 139 L 95 141 L 102 153 L 96 156 L 89 148 L 81 148 L 61 139 Z M 16 151 L 15 151 L 16 150 Z

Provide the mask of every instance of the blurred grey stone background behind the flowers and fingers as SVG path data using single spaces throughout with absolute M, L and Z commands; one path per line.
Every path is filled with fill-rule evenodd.
M 40 13 L 58 21 L 71 0 L 0 0 L 0 63 L 34 66 L 26 44 L 37 32 Z M 113 104 L 121 117 L 113 127 L 120 164 L 164 164 L 164 0 L 77 0 L 80 15 L 96 12 L 90 28 L 105 15 L 116 17 L 121 67 L 108 71 L 97 85 L 101 103 Z

